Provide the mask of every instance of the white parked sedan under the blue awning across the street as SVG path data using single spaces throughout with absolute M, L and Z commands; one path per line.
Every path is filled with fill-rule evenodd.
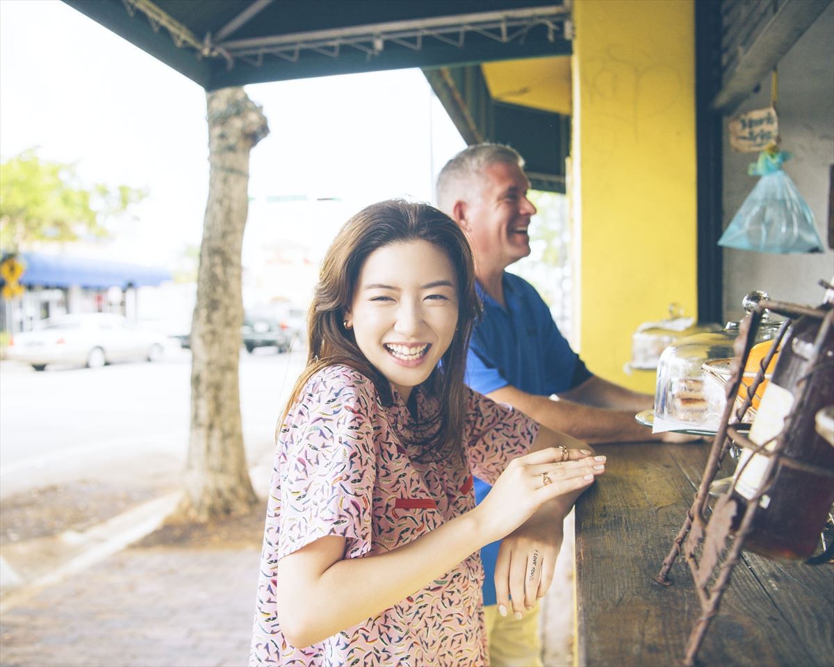
M 97 369 L 113 361 L 158 361 L 165 337 L 113 313 L 83 313 L 48 319 L 42 328 L 16 333 L 9 359 L 38 371 L 48 364 L 79 364 Z

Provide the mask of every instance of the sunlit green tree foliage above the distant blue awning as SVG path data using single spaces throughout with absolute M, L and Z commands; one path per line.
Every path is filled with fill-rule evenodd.
M 106 237 L 107 219 L 146 194 L 126 185 L 85 188 L 73 165 L 42 160 L 29 149 L 0 163 L 0 246 L 16 252 L 36 241 Z

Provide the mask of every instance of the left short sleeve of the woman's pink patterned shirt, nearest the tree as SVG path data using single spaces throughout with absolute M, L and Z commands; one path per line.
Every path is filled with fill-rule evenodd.
M 346 557 L 369 551 L 375 404 L 369 380 L 344 367 L 325 369 L 304 389 L 279 437 L 270 501 L 279 510 L 276 558 L 326 535 L 347 540 Z

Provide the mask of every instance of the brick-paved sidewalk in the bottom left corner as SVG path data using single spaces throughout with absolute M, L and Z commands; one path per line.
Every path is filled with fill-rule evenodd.
M 129 548 L 20 599 L 0 664 L 245 665 L 259 549 Z

